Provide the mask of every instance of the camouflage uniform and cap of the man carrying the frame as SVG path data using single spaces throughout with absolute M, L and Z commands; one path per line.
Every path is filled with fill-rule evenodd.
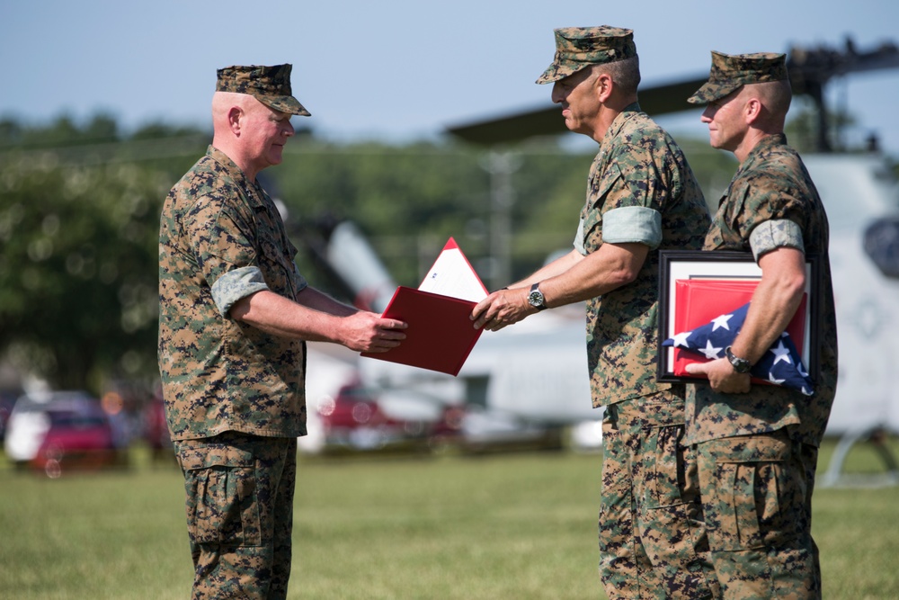
M 713 52 L 712 60 L 708 83 L 690 98 L 692 103 L 712 104 L 704 121 L 717 123 L 717 110 L 743 107 L 752 97 L 752 90 L 741 93 L 744 85 L 787 85 L 782 54 Z M 786 98 L 783 117 L 788 87 L 781 94 Z M 725 106 L 729 102 L 734 104 Z M 766 108 L 778 111 L 776 106 Z M 713 127 L 723 131 L 727 124 Z M 819 303 L 820 322 L 812 327 L 819 332 L 820 374 L 812 397 L 772 385 L 752 385 L 748 393 L 690 385 L 685 443 L 695 444 L 699 453 L 711 556 L 724 596 L 814 598 L 821 596 L 821 582 L 811 537 L 811 497 L 817 448 L 837 378 L 828 224 L 806 167 L 787 145 L 782 124 L 772 128 L 761 123 L 759 129 L 764 135 L 754 146 L 735 151 L 745 156 L 738 155 L 741 165 L 721 198 L 704 249 L 752 251 L 757 261 L 779 248 L 817 257 L 819 295 L 813 301 Z M 713 137 L 713 146 L 733 147 L 740 139 L 738 134 L 725 142 Z

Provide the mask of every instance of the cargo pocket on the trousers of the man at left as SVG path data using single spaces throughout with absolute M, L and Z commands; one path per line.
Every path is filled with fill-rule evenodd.
M 261 543 L 251 452 L 211 444 L 181 453 L 191 542 Z

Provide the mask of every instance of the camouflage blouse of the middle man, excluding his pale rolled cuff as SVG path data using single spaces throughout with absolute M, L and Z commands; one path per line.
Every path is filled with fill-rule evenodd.
M 672 387 L 656 381 L 658 250 L 699 250 L 709 223 L 708 207 L 681 148 L 636 103 L 612 121 L 593 159 L 581 212 L 585 253 L 602 245 L 607 212 L 633 207 L 661 214 L 662 239 L 651 247 L 634 282 L 587 301 L 594 407 Z

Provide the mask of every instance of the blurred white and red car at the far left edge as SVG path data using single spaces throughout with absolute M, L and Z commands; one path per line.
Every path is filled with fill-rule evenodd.
M 17 466 L 50 478 L 120 464 L 109 415 L 100 400 L 83 391 L 20 397 L 9 416 L 4 450 Z

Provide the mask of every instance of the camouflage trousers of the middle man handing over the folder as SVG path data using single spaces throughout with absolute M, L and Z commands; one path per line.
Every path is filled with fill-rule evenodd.
M 600 576 L 611 599 L 717 595 L 683 423 L 683 399 L 667 391 L 606 407 Z

